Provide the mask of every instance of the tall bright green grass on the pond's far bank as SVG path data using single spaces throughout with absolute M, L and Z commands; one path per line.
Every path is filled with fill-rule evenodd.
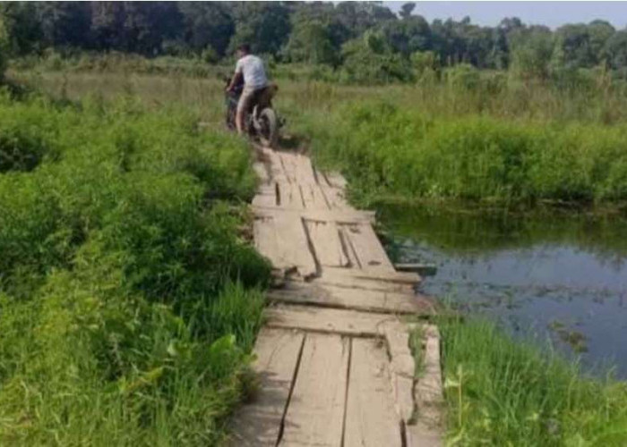
M 578 202 L 627 198 L 627 125 L 441 117 L 388 102 L 313 114 L 324 164 L 369 196 Z

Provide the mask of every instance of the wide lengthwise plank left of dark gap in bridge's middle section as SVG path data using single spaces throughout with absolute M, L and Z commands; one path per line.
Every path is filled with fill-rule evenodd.
M 309 249 L 303 221 L 293 217 L 293 215 L 274 217 L 279 259 L 284 265 L 296 266 L 298 273 L 303 278 L 308 278 L 317 272 L 314 254 Z

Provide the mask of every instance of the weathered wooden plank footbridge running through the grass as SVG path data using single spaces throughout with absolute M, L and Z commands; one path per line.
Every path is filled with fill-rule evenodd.
M 284 284 L 255 345 L 261 387 L 234 419 L 232 445 L 440 445 L 442 379 L 434 314 L 417 274 L 395 271 L 374 214 L 307 156 L 258 149 L 254 241 Z M 410 334 L 417 330 L 417 367 Z

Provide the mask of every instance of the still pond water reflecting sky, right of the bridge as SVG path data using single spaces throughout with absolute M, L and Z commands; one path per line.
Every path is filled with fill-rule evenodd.
M 399 262 L 434 264 L 423 291 L 552 341 L 627 378 L 627 221 L 580 214 L 381 210 Z

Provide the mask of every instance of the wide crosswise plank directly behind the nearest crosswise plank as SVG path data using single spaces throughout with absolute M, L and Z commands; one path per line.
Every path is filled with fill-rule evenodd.
M 366 312 L 434 315 L 434 302 L 423 295 L 351 289 L 333 285 L 288 282 L 268 292 L 268 298 L 293 304 L 349 308 Z

